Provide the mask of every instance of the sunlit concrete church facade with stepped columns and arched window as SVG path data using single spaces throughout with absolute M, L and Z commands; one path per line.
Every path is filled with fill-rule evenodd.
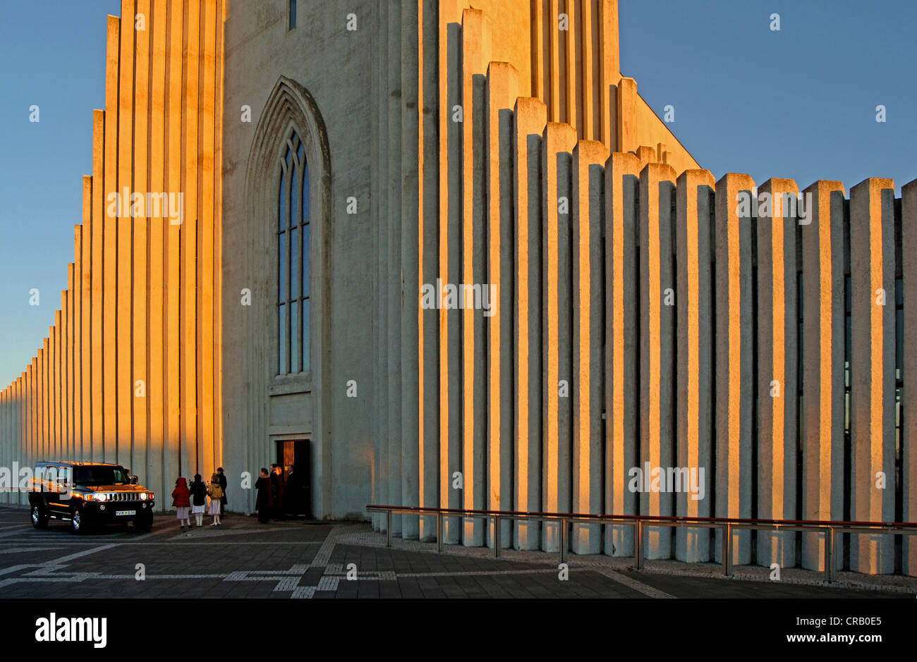
M 915 519 L 917 183 L 714 182 L 622 77 L 616 0 L 121 16 L 68 287 L 0 394 L 0 465 L 116 461 L 160 493 L 224 466 L 250 513 L 249 477 L 280 459 L 334 519 L 370 502 Z M 182 193 L 181 220 L 110 213 L 126 188 Z M 458 298 L 425 305 L 430 287 Z M 635 490 L 645 468 L 697 491 Z M 558 548 L 549 524 L 503 525 L 504 545 Z M 917 544 L 852 537 L 839 564 L 917 574 Z M 570 545 L 634 540 L 578 526 Z M 646 545 L 722 548 L 704 529 Z M 734 555 L 824 563 L 816 535 L 743 531 Z

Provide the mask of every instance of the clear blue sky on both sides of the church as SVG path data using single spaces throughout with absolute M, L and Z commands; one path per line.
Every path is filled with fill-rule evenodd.
M 3 11 L 0 387 L 35 355 L 67 284 L 92 111 L 105 99 L 105 15 L 120 3 L 7 0 Z M 669 127 L 715 177 L 832 179 L 848 191 L 870 176 L 899 191 L 917 179 L 912 0 L 620 0 L 620 28 L 622 72 L 658 115 L 675 106 Z

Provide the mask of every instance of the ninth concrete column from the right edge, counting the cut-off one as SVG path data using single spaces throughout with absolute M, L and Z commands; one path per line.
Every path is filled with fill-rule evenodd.
M 580 140 L 573 150 L 573 510 L 602 513 L 602 224 L 608 150 Z M 599 524 L 573 524 L 577 554 L 602 552 Z

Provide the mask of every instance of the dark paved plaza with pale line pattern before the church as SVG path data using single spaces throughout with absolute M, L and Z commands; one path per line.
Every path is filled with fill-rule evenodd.
M 711 563 L 569 556 L 446 546 L 385 536 L 370 524 L 277 522 L 230 513 L 220 527 L 182 534 L 173 515 L 149 534 L 113 527 L 73 535 L 67 524 L 28 524 L 24 508 L 0 508 L 0 598 L 908 598 L 917 579 L 735 568 Z M 349 579 L 348 579 L 349 576 Z M 355 578 L 355 579 L 354 579 Z

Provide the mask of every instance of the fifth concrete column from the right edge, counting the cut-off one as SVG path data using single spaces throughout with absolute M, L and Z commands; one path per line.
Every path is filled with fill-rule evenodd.
M 751 516 L 752 291 L 751 226 L 755 182 L 728 173 L 716 182 L 716 510 L 717 517 Z M 740 196 L 746 204 L 740 203 Z M 751 561 L 749 531 L 733 534 L 732 562 Z M 714 560 L 723 560 L 716 530 Z

